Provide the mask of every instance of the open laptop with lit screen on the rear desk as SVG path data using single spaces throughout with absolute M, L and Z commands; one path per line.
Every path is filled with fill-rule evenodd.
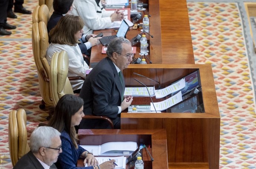
M 118 29 L 118 32 L 116 33 L 116 35 L 103 36 L 101 39 L 99 39 L 99 41 L 101 42 L 101 44 L 103 46 L 109 45 L 109 43 L 112 39 L 114 39 L 116 37 L 125 37 L 128 30 L 129 30 L 129 25 L 127 24 L 127 22 L 125 20 L 123 20 L 122 23 L 121 23 L 121 26 Z

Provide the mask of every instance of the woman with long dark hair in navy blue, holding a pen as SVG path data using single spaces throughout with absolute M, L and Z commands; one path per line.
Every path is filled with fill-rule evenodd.
M 82 98 L 75 95 L 64 95 L 60 98 L 54 109 L 53 117 L 47 124 L 61 133 L 62 153 L 55 165 L 59 169 L 114 169 L 114 159 L 98 165 L 92 153 L 77 144 L 75 126 L 79 125 L 83 116 L 85 115 Z M 83 163 L 88 163 L 88 167 L 76 167 L 79 158 L 84 158 Z

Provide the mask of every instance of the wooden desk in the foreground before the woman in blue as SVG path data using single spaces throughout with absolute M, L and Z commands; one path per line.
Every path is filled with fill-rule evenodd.
M 168 169 L 167 145 L 165 130 L 78 130 L 80 145 L 102 145 L 107 142 L 137 142 L 138 145 L 151 145 L 149 149 L 154 161 L 150 161 L 150 156 L 145 151 L 142 152 L 144 168 L 148 169 Z M 78 160 L 78 166 L 83 166 L 83 160 Z

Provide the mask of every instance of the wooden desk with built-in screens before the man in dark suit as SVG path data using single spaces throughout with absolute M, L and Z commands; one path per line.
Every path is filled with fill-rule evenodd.
M 148 86 L 157 83 L 143 79 L 133 72 L 158 80 L 161 87 L 199 69 L 205 113 L 121 113 L 121 129 L 166 129 L 168 162 L 209 163 L 210 169 L 219 169 L 220 114 L 210 64 L 152 64 L 130 65 L 124 69 L 126 86 Z M 144 103 L 150 104 L 145 97 Z M 147 103 L 145 103 L 147 102 Z M 140 105 L 134 99 L 132 105 Z

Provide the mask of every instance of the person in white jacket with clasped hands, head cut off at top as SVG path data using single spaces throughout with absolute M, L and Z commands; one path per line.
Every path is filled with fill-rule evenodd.
M 113 21 L 124 19 L 124 13 L 120 10 L 106 11 L 100 0 L 74 0 L 71 14 L 80 16 L 85 24 L 85 34 L 93 30 L 106 29 Z

